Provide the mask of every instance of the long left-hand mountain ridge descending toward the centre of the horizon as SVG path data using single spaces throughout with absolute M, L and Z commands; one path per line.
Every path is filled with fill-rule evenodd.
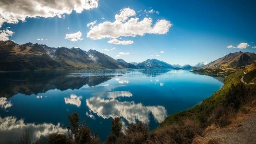
M 46 45 L 0 41 L 0 71 L 52 69 L 117 69 L 135 68 L 124 60 L 115 60 L 96 50 L 51 48 Z

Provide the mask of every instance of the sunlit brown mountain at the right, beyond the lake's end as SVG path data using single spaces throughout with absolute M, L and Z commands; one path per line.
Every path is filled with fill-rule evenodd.
M 256 54 L 253 52 L 235 52 L 225 55 L 218 60 L 214 60 L 204 66 L 204 69 L 221 69 L 231 67 L 241 67 L 256 62 Z

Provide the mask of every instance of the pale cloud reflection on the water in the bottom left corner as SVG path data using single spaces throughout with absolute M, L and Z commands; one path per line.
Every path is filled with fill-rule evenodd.
M 28 130 L 31 140 L 37 139 L 40 136 L 48 136 L 51 133 L 67 133 L 67 129 L 63 129 L 60 123 L 54 125 L 52 123 L 25 123 L 23 119 L 17 120 L 12 116 L 4 118 L 0 117 L 0 140 L 3 144 L 16 144 L 17 141 L 13 136 L 20 136 L 24 130 Z

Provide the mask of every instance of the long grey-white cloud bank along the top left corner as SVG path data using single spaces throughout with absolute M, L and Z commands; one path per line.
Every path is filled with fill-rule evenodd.
M 26 18 L 63 17 L 72 11 L 81 13 L 98 7 L 98 0 L 0 0 L 0 27 L 17 24 Z

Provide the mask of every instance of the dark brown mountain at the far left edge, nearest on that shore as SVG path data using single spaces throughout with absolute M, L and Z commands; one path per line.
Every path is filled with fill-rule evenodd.
M 0 41 L 0 70 L 43 70 L 55 69 L 60 64 L 40 48 Z

